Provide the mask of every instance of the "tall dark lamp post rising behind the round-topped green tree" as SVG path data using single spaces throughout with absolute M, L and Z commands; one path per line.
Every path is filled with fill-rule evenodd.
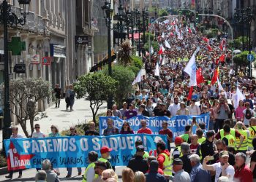
M 105 11 L 106 16 L 105 16 L 105 21 L 106 21 L 106 26 L 108 28 L 108 75 L 112 76 L 112 58 L 111 58 L 111 13 L 113 12 L 113 9 L 111 9 L 111 2 L 105 1 L 104 6 L 102 7 L 102 10 Z M 108 109 L 111 109 L 113 105 L 113 97 L 110 96 L 108 98 Z

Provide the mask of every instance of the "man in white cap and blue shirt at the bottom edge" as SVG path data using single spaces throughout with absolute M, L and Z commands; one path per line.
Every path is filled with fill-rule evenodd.
M 207 170 L 203 169 L 200 164 L 200 157 L 197 154 L 189 156 L 190 165 L 192 170 L 190 175 L 191 182 L 208 182 L 211 181 L 211 175 Z

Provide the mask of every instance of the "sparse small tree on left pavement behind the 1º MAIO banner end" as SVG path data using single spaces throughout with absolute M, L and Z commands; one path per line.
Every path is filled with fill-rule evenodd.
M 10 103 L 14 106 L 11 110 L 17 118 L 26 137 L 26 122 L 29 119 L 31 135 L 34 132 L 34 117 L 37 115 L 37 102 L 50 98 L 52 89 L 50 83 L 43 79 L 12 79 L 10 81 Z M 31 136 L 30 135 L 30 136 Z

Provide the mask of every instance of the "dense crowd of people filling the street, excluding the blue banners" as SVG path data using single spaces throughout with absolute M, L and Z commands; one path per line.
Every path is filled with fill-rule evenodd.
M 113 105 L 106 112 L 106 116 L 124 119 L 121 130 L 109 118 L 103 135 L 151 134 L 146 120 L 140 121 L 138 131 L 133 131 L 129 126 L 127 119 L 139 115 L 170 118 L 177 115 L 209 114 L 210 122 L 206 128 L 204 122 L 197 123 L 193 118 L 192 123 L 185 127 L 184 135 L 180 136 L 174 136 L 168 123 L 162 122 L 159 134 L 167 135 L 167 141 L 157 143 L 157 156 L 149 156 L 143 142 L 136 141 L 135 156 L 129 159 L 127 167 L 122 171 L 122 180 L 256 181 L 256 79 L 247 76 L 244 69 L 237 72 L 234 70 L 231 52 L 225 48 L 228 47 L 225 38 L 207 39 L 200 32 L 180 25 L 178 20 L 159 23 L 158 29 L 157 41 L 161 49 L 163 47 L 165 50 L 148 53 L 151 60 L 148 54 L 143 56 L 146 74 L 142 76 L 135 92 L 129 93 L 120 109 Z M 166 42 L 171 45 L 170 48 Z M 184 68 L 194 53 L 203 82 L 190 87 L 190 79 L 184 73 Z M 156 71 L 158 66 L 159 74 Z M 217 79 L 213 79 L 214 76 Z M 197 127 L 195 133 L 192 132 L 194 125 Z M 35 125 L 35 130 L 32 138 L 45 137 L 39 131 L 39 124 Z M 59 136 L 56 126 L 53 125 L 51 131 L 49 137 Z M 22 138 L 18 135 L 17 127 L 12 132 L 12 138 Z M 75 127 L 70 128 L 70 133 L 70 136 L 76 135 Z M 94 122 L 89 123 L 85 135 L 99 135 Z M 173 150 L 170 147 L 172 142 L 175 144 Z M 108 162 L 111 151 L 102 146 L 101 157 L 96 151 L 89 152 L 90 164 L 83 174 L 83 181 L 118 180 L 115 167 Z M 53 170 L 48 160 L 42 162 L 42 170 L 37 170 L 38 181 L 45 181 L 46 178 L 46 181 L 58 180 L 59 170 Z M 67 171 L 69 178 L 72 168 Z M 12 178 L 12 173 L 7 178 Z M 81 174 L 81 168 L 78 168 L 78 175 Z M 21 175 L 22 171 L 19 171 L 19 177 Z

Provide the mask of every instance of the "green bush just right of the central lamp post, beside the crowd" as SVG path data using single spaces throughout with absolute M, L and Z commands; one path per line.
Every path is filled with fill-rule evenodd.
M 112 78 L 118 81 L 114 98 L 119 107 L 127 98 L 128 93 L 132 92 L 132 81 L 135 79 L 135 74 L 124 66 L 113 66 L 112 68 Z M 103 73 L 108 74 L 107 67 L 103 68 Z

